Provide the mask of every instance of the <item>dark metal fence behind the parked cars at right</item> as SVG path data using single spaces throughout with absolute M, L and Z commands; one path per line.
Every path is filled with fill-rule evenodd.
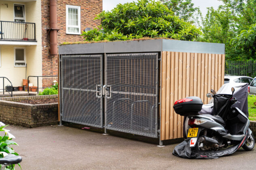
M 255 77 L 256 76 L 256 60 L 250 60 L 250 61 L 227 60 L 225 65 L 225 74 Z

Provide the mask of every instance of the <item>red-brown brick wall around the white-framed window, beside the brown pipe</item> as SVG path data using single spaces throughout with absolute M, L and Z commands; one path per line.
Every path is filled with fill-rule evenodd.
M 66 5 L 81 6 L 81 31 L 85 28 L 100 25 L 99 20 L 94 20 L 96 14 L 102 12 L 102 0 L 57 0 L 58 44 L 63 42 L 83 41 L 80 35 L 66 34 Z M 42 64 L 44 75 L 58 75 L 58 57 L 50 56 L 49 35 L 50 28 L 49 0 L 41 1 L 42 10 Z M 52 85 L 57 78 L 43 78 L 43 87 Z

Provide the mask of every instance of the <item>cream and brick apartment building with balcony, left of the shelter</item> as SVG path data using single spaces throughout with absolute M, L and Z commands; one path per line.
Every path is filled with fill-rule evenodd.
M 83 41 L 82 31 L 100 24 L 94 18 L 102 11 L 102 0 L 56 2 L 58 44 Z M 0 77 L 7 77 L 14 87 L 22 86 L 28 76 L 58 75 L 58 57 L 49 53 L 49 8 L 50 0 L 0 0 Z M 53 80 L 57 78 L 39 78 L 38 87 L 52 85 Z M 36 78 L 30 83 L 36 86 Z

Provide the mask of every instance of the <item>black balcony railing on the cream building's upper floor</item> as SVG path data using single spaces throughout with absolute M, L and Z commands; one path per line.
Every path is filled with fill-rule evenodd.
M 36 24 L 0 21 L 0 41 L 36 41 Z

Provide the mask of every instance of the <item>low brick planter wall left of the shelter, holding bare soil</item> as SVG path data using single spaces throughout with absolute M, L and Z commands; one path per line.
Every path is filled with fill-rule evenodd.
M 58 95 L 37 95 L 0 98 L 0 121 L 24 127 L 58 124 L 58 103 L 23 104 L 24 99 L 56 98 Z

